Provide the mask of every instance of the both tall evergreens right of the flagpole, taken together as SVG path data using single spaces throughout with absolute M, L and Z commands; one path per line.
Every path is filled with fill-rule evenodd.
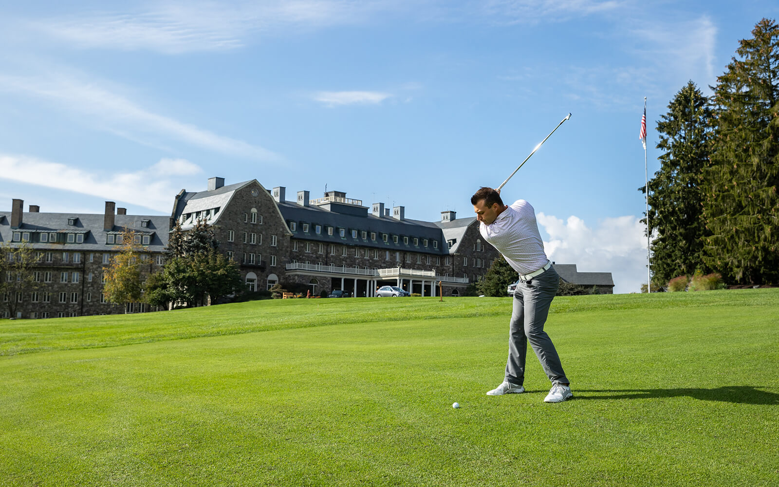
M 652 288 L 706 273 L 779 280 L 779 25 L 762 19 L 752 34 L 710 97 L 689 81 L 657 122 L 661 168 L 643 219 L 656 235 Z

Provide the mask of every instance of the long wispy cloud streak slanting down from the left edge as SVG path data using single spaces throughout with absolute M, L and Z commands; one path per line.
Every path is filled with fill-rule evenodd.
M 159 115 L 100 85 L 69 76 L 0 75 L 0 90 L 54 101 L 63 108 L 100 122 L 100 128 L 133 141 L 160 135 L 223 154 L 278 161 L 277 154 L 242 140 L 220 136 L 196 125 Z M 149 142 L 159 146 L 160 143 Z

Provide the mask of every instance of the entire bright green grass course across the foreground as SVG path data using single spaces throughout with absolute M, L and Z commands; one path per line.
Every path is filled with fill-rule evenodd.
M 779 484 L 779 289 L 555 298 L 562 404 L 510 303 L 0 321 L 0 485 Z

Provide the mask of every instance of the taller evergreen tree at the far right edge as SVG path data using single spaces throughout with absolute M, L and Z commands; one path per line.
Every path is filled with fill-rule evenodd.
M 762 19 L 714 86 L 704 173 L 706 263 L 732 281 L 779 281 L 779 25 Z

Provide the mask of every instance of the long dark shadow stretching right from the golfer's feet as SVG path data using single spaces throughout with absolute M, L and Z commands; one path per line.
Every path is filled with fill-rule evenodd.
M 600 393 L 590 396 L 586 393 Z M 574 389 L 573 397 L 580 399 L 657 399 L 663 397 L 693 397 L 700 401 L 720 401 L 734 404 L 779 405 L 779 394 L 754 386 L 723 386 L 714 389 Z

